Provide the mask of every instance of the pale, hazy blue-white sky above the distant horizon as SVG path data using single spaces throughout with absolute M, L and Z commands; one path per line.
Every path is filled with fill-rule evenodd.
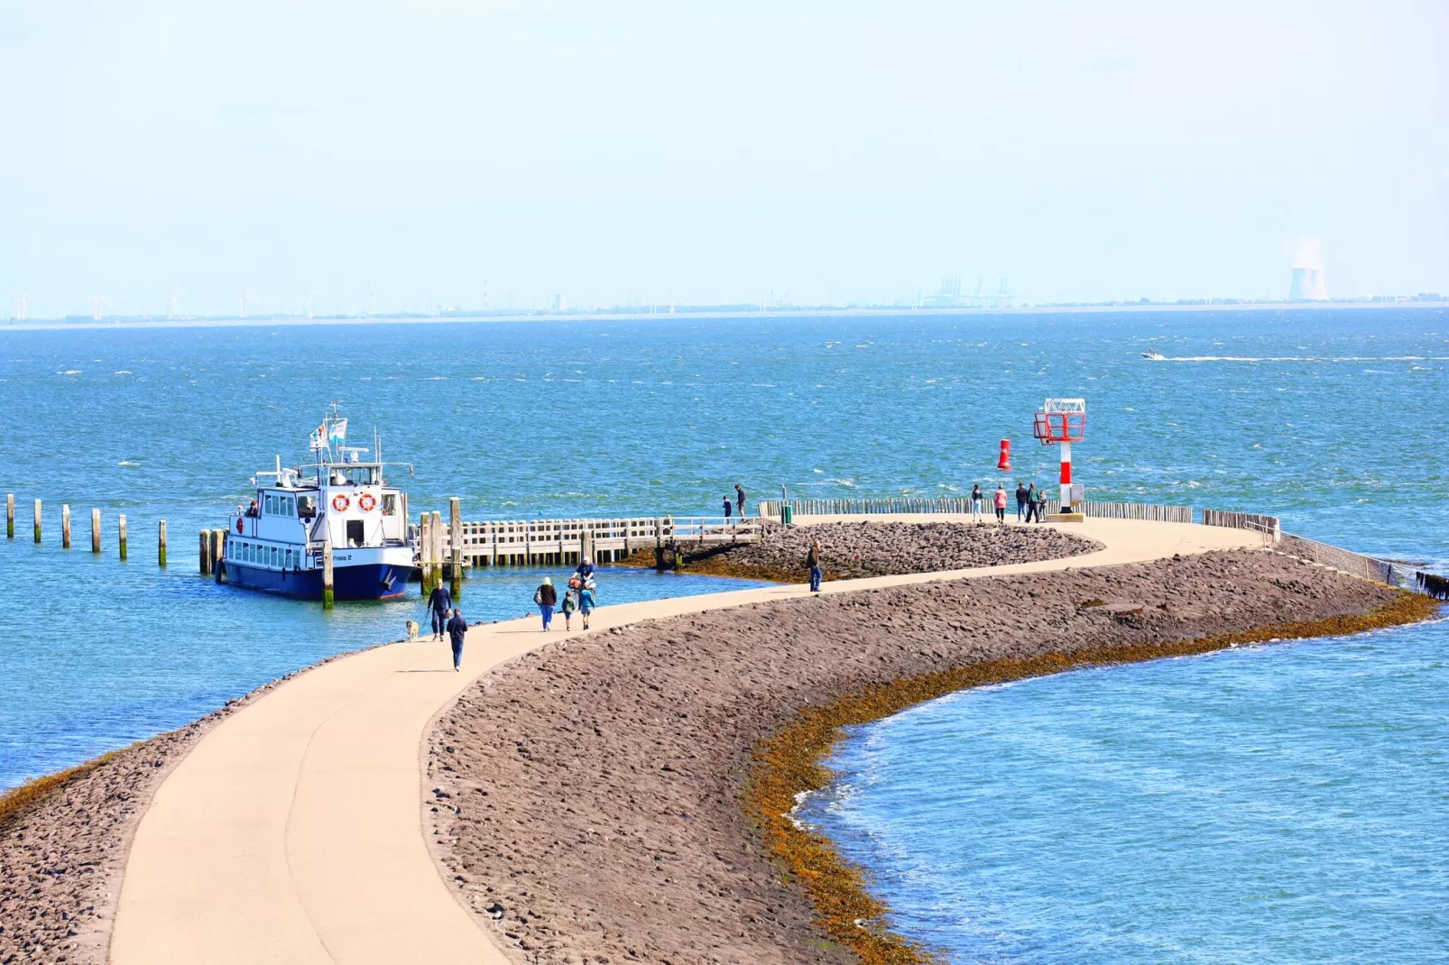
M 0 317 L 1449 293 L 1443 3 L 0 0 Z

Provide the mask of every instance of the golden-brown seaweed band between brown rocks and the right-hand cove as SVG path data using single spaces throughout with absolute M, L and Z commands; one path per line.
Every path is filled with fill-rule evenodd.
M 1084 667 L 1191 656 L 1239 645 L 1364 633 L 1433 619 L 1440 607 L 1432 597 L 1400 591 L 1392 603 L 1359 614 L 1195 639 L 980 661 L 867 687 L 858 694 L 801 710 L 794 723 L 756 743 L 742 804 L 756 822 L 771 859 L 806 891 L 816 910 L 816 924 L 832 940 L 853 951 L 862 965 L 939 965 L 943 959 L 935 951 L 890 930 L 885 923 L 888 908 L 867 893 L 865 872 L 843 859 L 830 839 L 797 823 L 793 816 L 800 794 L 820 791 L 830 782 L 824 759 L 843 738 L 845 727 L 881 720 L 914 704 L 972 687 Z

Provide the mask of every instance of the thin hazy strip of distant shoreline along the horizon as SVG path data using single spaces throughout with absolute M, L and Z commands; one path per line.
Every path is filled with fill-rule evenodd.
M 38 319 L 35 322 L 0 323 L 0 332 L 84 332 L 110 329 L 245 329 L 245 327 L 306 327 L 306 326 L 352 326 L 352 325 L 459 325 L 478 322 L 658 322 L 680 319 L 688 322 L 717 319 L 832 319 L 832 317 L 894 317 L 894 316 L 995 316 L 995 314 L 1104 314 L 1104 313 L 1217 313 L 1217 312 L 1342 312 L 1352 309 L 1449 309 L 1449 301 L 1243 301 L 1235 304 L 1080 304 L 1080 306 L 1022 306 L 1013 309 L 771 309 L 709 312 L 516 312 L 504 314 L 375 314 L 371 317 L 293 317 L 262 316 L 242 317 L 196 317 L 196 319 L 145 319 L 126 317 L 116 322 L 67 322 L 64 319 Z

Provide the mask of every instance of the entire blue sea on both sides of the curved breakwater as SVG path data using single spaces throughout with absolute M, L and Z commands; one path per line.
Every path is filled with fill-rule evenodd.
M 197 530 L 303 461 L 332 403 L 410 464 L 393 481 L 414 510 L 536 519 L 716 514 L 736 482 L 751 501 L 1051 484 L 1032 414 L 1064 396 L 1087 400 L 1088 498 L 1274 513 L 1449 565 L 1439 307 L 0 326 L 0 788 L 423 614 L 197 574 Z M 465 614 L 522 616 L 542 572 L 478 572 Z M 600 596 L 739 585 L 611 568 Z M 1446 667 L 1429 624 L 959 694 L 853 732 L 804 814 L 952 961 L 1442 961 Z

